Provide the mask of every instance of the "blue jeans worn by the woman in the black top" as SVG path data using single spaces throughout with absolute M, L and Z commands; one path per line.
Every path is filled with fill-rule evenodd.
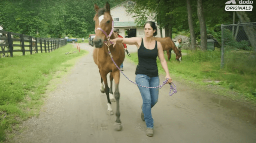
M 159 86 L 159 77 L 149 77 L 144 74 L 136 75 L 136 83 L 141 86 L 146 87 L 156 87 Z M 151 108 L 158 101 L 159 88 L 144 88 L 138 86 L 140 94 L 142 96 L 142 112 L 144 114 L 144 119 L 148 128 L 154 128 L 154 121 L 151 114 Z

